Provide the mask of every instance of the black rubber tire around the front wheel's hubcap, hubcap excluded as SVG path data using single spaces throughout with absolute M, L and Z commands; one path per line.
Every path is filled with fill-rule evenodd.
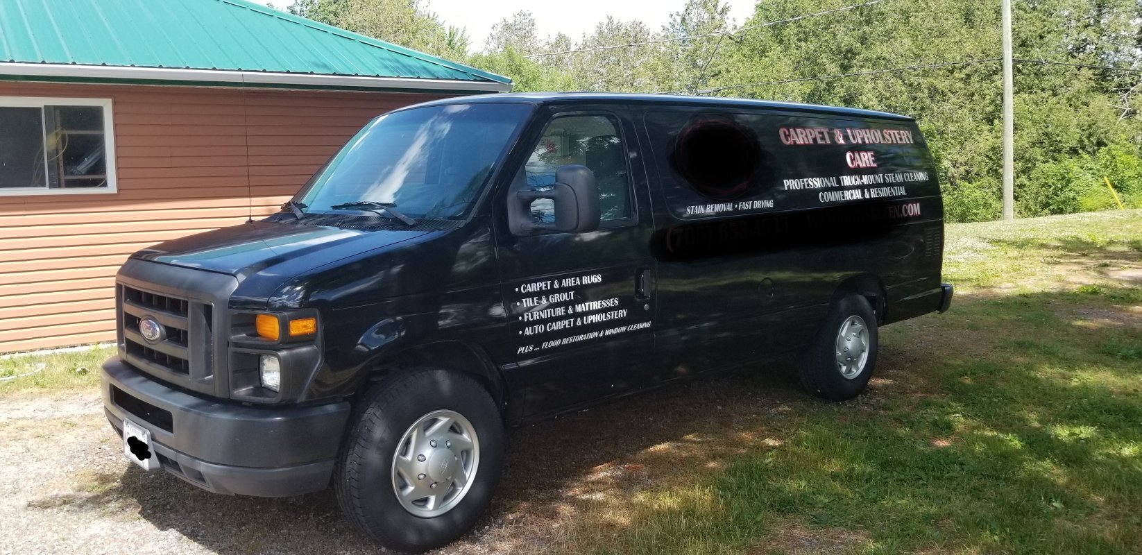
M 415 423 L 441 410 L 461 415 L 475 428 L 477 470 L 447 513 L 419 516 L 394 491 L 394 456 Z M 341 510 L 361 531 L 389 549 L 419 553 L 447 545 L 475 524 L 491 500 L 502 461 L 504 423 L 486 389 L 468 375 L 420 369 L 380 381 L 364 395 L 333 481 Z

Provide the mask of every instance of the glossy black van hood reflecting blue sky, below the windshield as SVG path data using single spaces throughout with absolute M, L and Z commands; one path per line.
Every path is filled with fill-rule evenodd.
M 131 258 L 238 276 L 283 279 L 363 251 L 428 233 L 420 230 L 343 230 L 301 223 L 254 222 L 166 241 Z

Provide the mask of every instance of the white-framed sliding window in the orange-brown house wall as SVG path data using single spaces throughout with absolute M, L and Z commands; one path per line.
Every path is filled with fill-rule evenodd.
M 111 100 L 0 97 L 0 195 L 114 193 Z

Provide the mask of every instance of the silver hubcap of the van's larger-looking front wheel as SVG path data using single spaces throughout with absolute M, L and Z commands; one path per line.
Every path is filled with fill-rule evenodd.
M 480 466 L 480 439 L 459 412 L 429 412 L 404 432 L 393 456 L 393 491 L 417 516 L 448 513 L 464 499 Z

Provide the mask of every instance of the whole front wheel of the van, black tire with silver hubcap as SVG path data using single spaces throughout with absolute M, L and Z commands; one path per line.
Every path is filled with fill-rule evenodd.
M 504 425 L 473 377 L 415 370 L 361 400 L 337 469 L 341 509 L 401 552 L 443 546 L 480 518 L 499 481 Z

